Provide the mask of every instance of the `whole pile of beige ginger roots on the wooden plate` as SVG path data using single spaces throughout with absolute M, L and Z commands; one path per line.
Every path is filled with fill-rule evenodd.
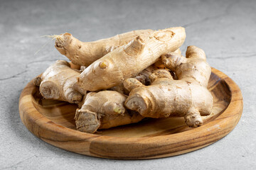
M 196 128 L 211 113 L 210 65 L 196 46 L 181 55 L 182 27 L 134 30 L 94 42 L 70 33 L 54 38 L 70 62 L 56 61 L 34 84 L 43 98 L 78 105 L 75 125 L 81 132 L 169 117 L 183 117 Z

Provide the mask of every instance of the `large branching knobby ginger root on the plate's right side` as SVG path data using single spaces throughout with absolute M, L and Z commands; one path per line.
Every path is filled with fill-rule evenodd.
M 166 69 L 151 74 L 151 86 L 144 86 L 137 79 L 126 79 L 124 87 L 132 91 L 125 106 L 144 117 L 180 116 L 189 127 L 203 125 L 201 115 L 209 115 L 213 108 L 213 96 L 207 89 L 211 69 L 205 53 L 196 46 L 189 46 L 186 57 L 171 52 L 161 59 L 178 80 L 172 79 Z

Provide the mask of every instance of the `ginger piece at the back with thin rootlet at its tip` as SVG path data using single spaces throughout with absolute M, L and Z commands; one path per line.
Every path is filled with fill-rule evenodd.
M 87 67 L 115 48 L 126 45 L 137 36 L 146 38 L 153 32 L 154 30 L 133 30 L 94 42 L 81 42 L 70 33 L 64 33 L 55 35 L 55 48 L 68 57 L 73 64 Z

